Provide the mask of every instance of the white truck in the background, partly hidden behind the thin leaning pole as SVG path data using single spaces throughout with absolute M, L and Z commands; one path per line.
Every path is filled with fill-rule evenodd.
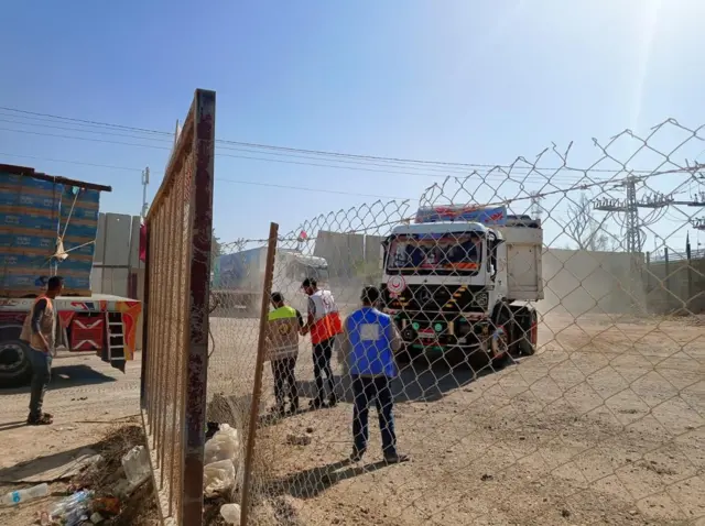
M 210 287 L 214 315 L 259 315 L 265 266 L 267 246 L 219 256 Z M 272 291 L 282 292 L 290 305 L 303 309 L 303 296 L 297 298 L 295 293 L 307 277 L 325 286 L 328 282 L 328 263 L 323 257 L 306 255 L 297 250 L 278 249 L 273 277 Z

